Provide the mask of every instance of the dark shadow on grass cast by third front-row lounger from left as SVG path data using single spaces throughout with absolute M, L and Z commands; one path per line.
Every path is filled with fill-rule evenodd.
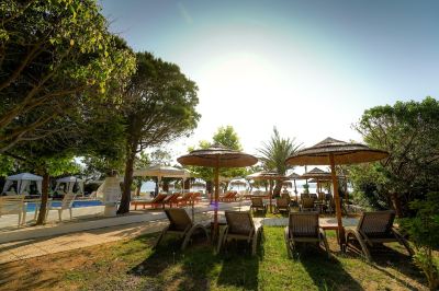
M 336 257 L 327 257 L 326 252 L 317 247 L 299 247 L 299 260 L 319 290 L 334 290 L 342 286 L 344 290 L 363 290 Z

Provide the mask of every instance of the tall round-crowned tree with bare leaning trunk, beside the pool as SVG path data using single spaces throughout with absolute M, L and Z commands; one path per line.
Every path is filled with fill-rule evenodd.
M 196 84 L 180 68 L 149 53 L 136 54 L 137 70 L 123 90 L 125 186 L 119 213 L 130 211 L 131 184 L 136 154 L 189 136 L 196 127 Z M 156 156 L 167 159 L 165 152 Z M 153 156 L 151 156 L 153 158 Z

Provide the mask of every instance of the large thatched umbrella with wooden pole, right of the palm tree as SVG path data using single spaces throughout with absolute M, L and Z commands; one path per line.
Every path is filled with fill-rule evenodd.
M 338 181 L 335 166 L 341 164 L 373 162 L 386 156 L 389 156 L 387 152 L 371 149 L 365 144 L 348 143 L 333 138 L 327 138 L 314 147 L 297 151 L 285 161 L 286 164 L 291 165 L 330 165 L 334 199 L 337 212 L 338 237 L 342 248 L 345 245 L 345 229 L 341 222 L 340 197 L 338 195 Z

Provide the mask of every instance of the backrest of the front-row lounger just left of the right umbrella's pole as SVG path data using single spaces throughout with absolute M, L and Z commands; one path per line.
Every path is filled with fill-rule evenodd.
M 289 228 L 293 236 L 318 237 L 318 213 L 292 212 Z

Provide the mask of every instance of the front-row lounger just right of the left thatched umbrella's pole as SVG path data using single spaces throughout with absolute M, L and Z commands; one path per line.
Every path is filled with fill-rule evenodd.
M 247 211 L 225 211 L 227 225 L 219 232 L 219 240 L 216 252 L 230 240 L 247 241 L 251 244 L 251 255 L 256 254 L 258 236 L 262 232 L 262 224 L 255 223 L 250 212 Z

